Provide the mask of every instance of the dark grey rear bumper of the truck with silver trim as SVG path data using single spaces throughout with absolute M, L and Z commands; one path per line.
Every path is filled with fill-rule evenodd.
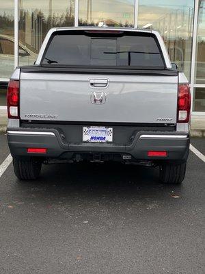
M 129 145 L 68 143 L 57 129 L 8 128 L 8 145 L 13 156 L 74 158 L 81 154 L 131 155 L 131 160 L 179 160 L 189 155 L 187 132 L 137 132 Z M 46 148 L 46 153 L 27 153 L 27 148 Z M 148 156 L 148 151 L 167 151 L 167 156 Z

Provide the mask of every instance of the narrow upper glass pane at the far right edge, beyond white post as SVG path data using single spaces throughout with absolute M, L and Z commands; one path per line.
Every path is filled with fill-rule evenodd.
M 195 83 L 205 84 L 205 0 L 199 1 Z

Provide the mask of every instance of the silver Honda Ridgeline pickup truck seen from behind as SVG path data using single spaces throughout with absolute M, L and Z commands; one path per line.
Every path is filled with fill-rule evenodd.
M 8 85 L 8 145 L 19 179 L 43 163 L 118 161 L 184 179 L 191 96 L 158 32 L 53 28 Z M 137 176 L 137 175 L 136 175 Z

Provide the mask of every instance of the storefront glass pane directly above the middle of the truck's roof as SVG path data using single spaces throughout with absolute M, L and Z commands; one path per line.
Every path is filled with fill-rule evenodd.
M 79 25 L 133 27 L 135 0 L 79 0 Z

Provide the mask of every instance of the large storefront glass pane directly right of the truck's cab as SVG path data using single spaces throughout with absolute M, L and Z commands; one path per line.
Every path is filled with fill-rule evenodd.
M 139 27 L 158 30 L 170 59 L 191 74 L 194 0 L 139 0 Z

